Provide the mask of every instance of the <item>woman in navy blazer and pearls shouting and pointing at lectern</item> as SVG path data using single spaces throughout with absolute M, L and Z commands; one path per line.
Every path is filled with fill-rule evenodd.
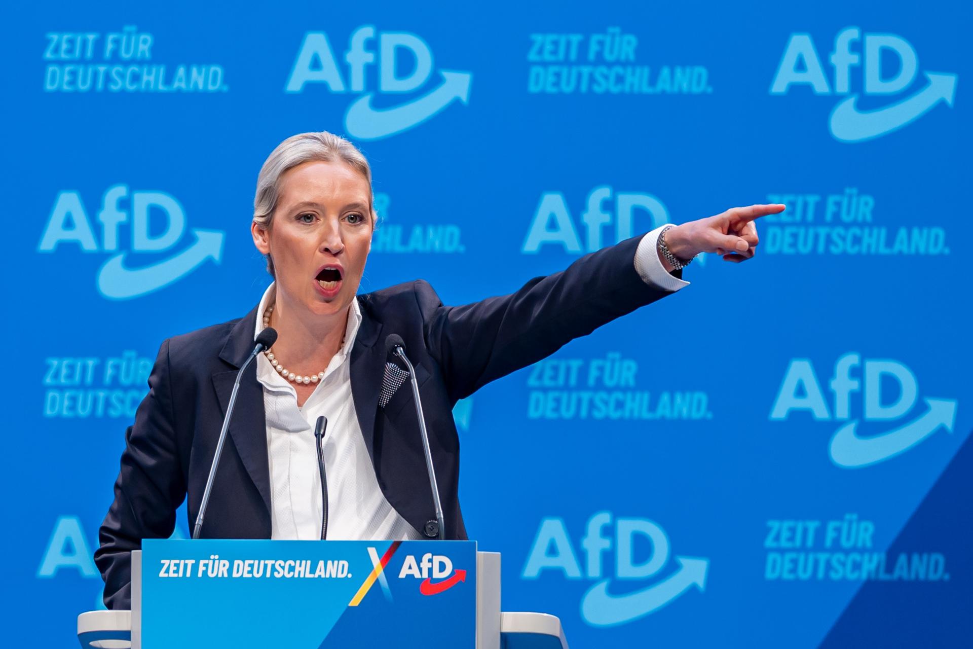
M 678 290 L 699 253 L 749 259 L 754 220 L 784 208 L 737 207 L 663 226 L 511 295 L 443 306 L 423 280 L 357 294 L 373 203 L 368 162 L 331 133 L 289 137 L 264 162 L 250 229 L 273 281 L 242 318 L 162 343 L 94 555 L 109 608 L 128 608 L 129 553 L 143 538 L 168 537 L 184 498 L 196 521 L 234 380 L 264 328 L 278 338 L 240 377 L 201 536 L 440 535 L 408 375 L 385 345 L 395 335 L 419 384 L 443 532 L 464 539 L 456 401 Z M 312 433 L 322 415 L 323 484 Z

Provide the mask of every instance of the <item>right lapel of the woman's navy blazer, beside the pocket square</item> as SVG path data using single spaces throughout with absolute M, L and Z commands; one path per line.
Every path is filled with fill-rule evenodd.
M 385 372 L 385 347 L 377 344 L 382 324 L 359 298 L 362 322 L 358 326 L 355 343 L 351 347 L 351 397 L 355 402 L 358 425 L 365 438 L 369 457 L 375 465 L 375 417 L 378 412 L 378 393 Z

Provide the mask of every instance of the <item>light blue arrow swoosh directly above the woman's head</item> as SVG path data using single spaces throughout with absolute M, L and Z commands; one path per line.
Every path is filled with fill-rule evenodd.
M 344 130 L 359 140 L 378 140 L 418 126 L 459 99 L 464 104 L 470 98 L 473 75 L 469 72 L 441 70 L 443 84 L 436 90 L 393 108 L 372 107 L 373 93 L 368 93 L 348 106 L 344 114 Z

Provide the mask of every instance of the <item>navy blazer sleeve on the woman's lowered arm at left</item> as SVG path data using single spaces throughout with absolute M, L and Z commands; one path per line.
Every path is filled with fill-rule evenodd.
M 131 551 L 143 538 L 168 538 L 176 508 L 186 496 L 172 404 L 169 342 L 162 343 L 149 375 L 149 393 L 126 430 L 115 501 L 98 530 L 94 562 L 105 580 L 105 605 L 126 609 L 131 602 Z

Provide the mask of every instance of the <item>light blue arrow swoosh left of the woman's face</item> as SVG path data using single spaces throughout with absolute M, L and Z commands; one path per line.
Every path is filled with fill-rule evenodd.
M 223 233 L 218 230 L 193 230 L 193 245 L 168 259 L 141 269 L 126 269 L 126 253 L 115 255 L 98 270 L 98 290 L 111 300 L 129 300 L 171 284 L 212 258 L 217 264 L 223 256 Z

